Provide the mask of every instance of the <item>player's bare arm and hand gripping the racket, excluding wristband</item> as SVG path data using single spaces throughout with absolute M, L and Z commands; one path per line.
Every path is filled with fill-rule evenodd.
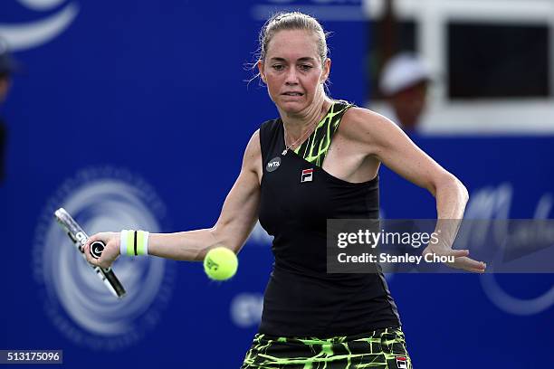
M 233 188 L 227 194 L 221 214 L 212 228 L 176 232 L 150 233 L 148 255 L 173 260 L 204 260 L 205 254 L 217 246 L 224 246 L 238 253 L 258 220 L 260 203 L 260 177 L 262 175 L 262 150 L 259 131 L 248 142 L 243 166 Z M 106 242 L 100 259 L 90 255 L 92 241 Z M 119 233 L 97 233 L 85 244 L 87 260 L 102 268 L 110 267 L 119 256 Z

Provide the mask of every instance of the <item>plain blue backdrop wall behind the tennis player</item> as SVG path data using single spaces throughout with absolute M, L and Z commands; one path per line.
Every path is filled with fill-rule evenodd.
M 236 277 L 222 284 L 208 281 L 199 263 L 120 260 L 114 270 L 131 304 L 101 289 L 51 213 L 65 206 L 89 232 L 211 226 L 249 137 L 277 114 L 258 81 L 244 81 L 252 77 L 244 64 L 263 24 L 256 14 L 282 3 L 0 5 L 0 30 L 74 12 L 51 39 L 16 52 L 26 72 L 3 109 L 0 349 L 62 349 L 68 367 L 242 363 L 272 268 L 263 232 L 253 233 Z M 328 17 L 347 5 L 361 14 L 356 1 L 284 3 Z M 363 105 L 366 24 L 332 19 L 324 21 L 333 31 L 331 95 Z M 553 137 L 414 138 L 467 185 L 468 215 L 552 215 Z M 381 188 L 384 216 L 435 216 L 430 194 L 386 168 Z M 420 368 L 543 367 L 542 354 L 553 348 L 553 282 L 551 275 L 389 276 Z M 101 317 L 118 318 L 100 330 Z

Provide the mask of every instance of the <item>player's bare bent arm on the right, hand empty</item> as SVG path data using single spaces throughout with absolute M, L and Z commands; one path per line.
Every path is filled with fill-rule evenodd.
M 429 244 L 424 253 L 454 255 L 453 268 L 482 272 L 485 264 L 467 257 L 467 250 L 452 250 L 469 198 L 467 189 L 454 175 L 416 147 L 406 134 L 389 119 L 368 109 L 349 109 L 343 132 L 356 141 L 367 156 L 374 156 L 406 180 L 427 189 L 436 199 L 437 228 L 441 240 Z M 457 220 L 458 222 L 453 222 Z

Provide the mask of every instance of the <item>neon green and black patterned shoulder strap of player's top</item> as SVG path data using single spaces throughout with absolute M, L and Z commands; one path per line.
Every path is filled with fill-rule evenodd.
M 340 100 L 334 102 L 327 115 L 321 119 L 310 137 L 300 147 L 297 147 L 294 152 L 315 166 L 322 166 L 323 160 L 329 151 L 333 135 L 337 131 L 337 128 L 339 128 L 340 119 L 351 107 L 353 105 L 346 101 Z

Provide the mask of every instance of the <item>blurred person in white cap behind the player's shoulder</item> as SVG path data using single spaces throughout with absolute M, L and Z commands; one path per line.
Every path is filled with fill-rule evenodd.
M 429 70 L 414 53 L 399 53 L 385 64 L 379 88 L 392 111 L 383 114 L 406 133 L 416 132 L 424 120 L 430 80 Z

